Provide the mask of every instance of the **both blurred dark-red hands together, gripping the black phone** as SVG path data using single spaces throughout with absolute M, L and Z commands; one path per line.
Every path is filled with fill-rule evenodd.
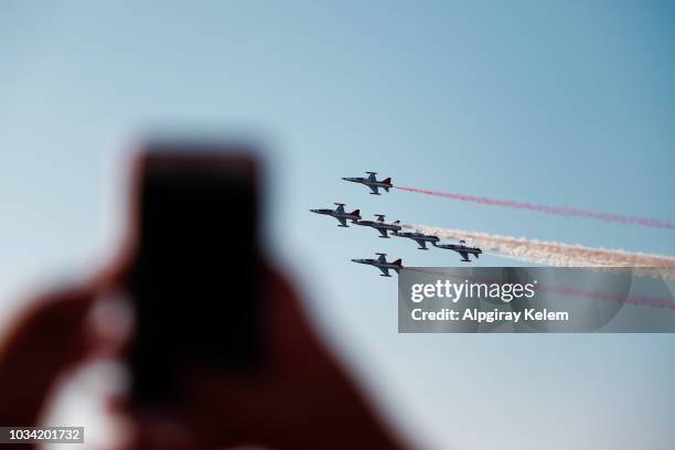
M 107 342 L 92 326 L 92 310 L 110 292 L 127 289 L 138 245 L 129 243 L 89 283 L 31 302 L 3 336 L 0 426 L 38 426 L 55 382 L 96 355 L 128 361 L 135 333 L 128 342 Z M 243 376 L 184 367 L 182 392 L 161 406 L 141 405 L 131 392 L 111 398 L 110 414 L 130 424 L 125 448 L 401 448 L 319 342 L 288 280 L 267 264 L 260 277 L 264 368 Z

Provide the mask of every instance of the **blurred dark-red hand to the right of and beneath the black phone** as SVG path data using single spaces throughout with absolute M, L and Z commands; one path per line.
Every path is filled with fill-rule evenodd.
M 158 448 L 169 443 L 162 433 L 173 443 L 182 439 L 181 448 L 400 448 L 317 340 L 289 283 L 267 274 L 265 371 L 253 377 L 195 371 L 172 410 L 143 414 L 132 400 L 126 405 L 139 428 L 157 430 L 150 435 Z

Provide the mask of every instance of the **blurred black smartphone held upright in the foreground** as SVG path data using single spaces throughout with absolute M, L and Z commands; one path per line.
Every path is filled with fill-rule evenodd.
M 137 401 L 170 401 L 192 368 L 249 373 L 262 356 L 258 167 L 246 153 L 151 146 L 137 168 L 129 291 Z

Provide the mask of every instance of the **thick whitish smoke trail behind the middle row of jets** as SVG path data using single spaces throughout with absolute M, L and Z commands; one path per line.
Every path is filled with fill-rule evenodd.
M 507 256 L 524 262 L 558 267 L 657 268 L 657 274 L 661 277 L 675 278 L 675 258 L 667 256 L 590 248 L 580 245 L 437 228 L 427 225 L 406 224 L 403 226 L 441 238 L 465 239 L 468 244 L 475 245 L 483 251 Z M 654 271 L 650 272 L 654 275 Z

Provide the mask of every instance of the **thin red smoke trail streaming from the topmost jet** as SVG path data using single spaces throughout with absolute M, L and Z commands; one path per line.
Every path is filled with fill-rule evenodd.
M 576 208 L 566 207 L 566 206 L 549 206 L 549 205 L 540 205 L 536 203 L 514 202 L 511 200 L 496 200 L 496 199 L 480 197 L 480 196 L 474 196 L 474 195 L 456 194 L 456 193 L 450 193 L 450 192 L 428 191 L 425 189 L 417 189 L 417 188 L 396 186 L 396 189 L 400 189 L 401 191 L 416 192 L 419 194 L 436 195 L 436 196 L 446 197 L 446 199 L 459 200 L 460 202 L 472 202 L 472 203 L 479 203 L 479 204 L 491 205 L 491 206 L 504 206 L 504 207 L 512 207 L 516 210 L 536 211 L 538 213 L 561 215 L 561 216 L 567 216 L 567 217 L 593 218 L 597 221 L 613 222 L 613 223 L 623 224 L 623 225 L 640 225 L 640 226 L 647 226 L 652 228 L 675 229 L 675 223 L 658 221 L 655 218 L 626 216 L 626 215 L 610 214 L 610 213 L 597 213 L 593 211 L 582 211 L 582 210 L 576 210 Z

